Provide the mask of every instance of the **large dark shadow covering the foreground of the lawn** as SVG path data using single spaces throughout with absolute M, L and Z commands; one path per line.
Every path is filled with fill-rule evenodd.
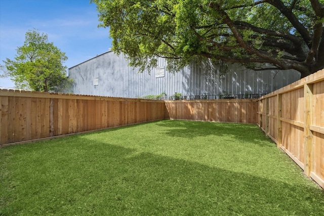
M 5 208 L 1 206 L 0 215 L 323 215 L 324 212 L 324 192 L 311 184 L 295 184 L 295 180 L 286 184 L 183 159 L 147 152 L 134 154 L 136 150 L 89 142 L 85 137 L 68 141 L 37 144 L 37 162 L 35 158 L 28 160 L 33 148 L 15 147 L 23 150 L 15 157 L 26 157 L 26 161 L 11 168 L 8 164 L 12 176 L 21 177 L 11 179 L 17 184 L 12 191 L 14 195 Z M 24 188 L 19 184 L 24 184 Z M 7 202 L 6 197 L 4 200 Z

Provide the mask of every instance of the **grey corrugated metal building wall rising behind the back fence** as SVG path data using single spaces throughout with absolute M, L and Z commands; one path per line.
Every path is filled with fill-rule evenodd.
M 182 95 L 266 94 L 298 79 L 297 71 L 253 71 L 237 64 L 229 66 L 210 61 L 192 62 L 173 74 L 166 70 L 165 59 L 158 59 L 164 68 L 163 77 L 158 70 L 139 73 L 129 66 L 123 55 L 109 51 L 86 62 L 69 68 L 74 80 L 73 94 L 138 98 L 147 95 L 168 96 L 176 92 Z M 163 69 L 161 69 L 163 70 Z

